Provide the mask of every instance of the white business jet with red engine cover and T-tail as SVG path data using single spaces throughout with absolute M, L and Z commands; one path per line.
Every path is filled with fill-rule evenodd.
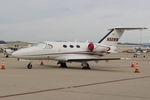
M 113 28 L 98 43 L 92 42 L 43 42 L 36 46 L 23 48 L 12 56 L 25 60 L 55 60 L 61 68 L 67 68 L 66 62 L 80 62 L 82 69 L 90 69 L 89 61 L 121 60 L 123 58 L 102 58 L 109 53 L 116 53 L 116 45 L 125 30 L 143 30 L 146 28 Z M 31 61 L 27 65 L 32 68 Z

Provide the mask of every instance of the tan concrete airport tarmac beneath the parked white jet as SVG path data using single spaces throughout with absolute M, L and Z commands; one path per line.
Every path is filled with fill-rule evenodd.
M 0 70 L 2 100 L 150 100 L 150 54 L 146 58 L 90 62 L 91 70 L 82 70 L 79 63 L 68 63 L 69 68 L 62 69 L 55 61 L 44 61 L 43 66 L 33 61 L 29 70 L 27 62 L 2 59 L 6 66 Z M 133 61 L 138 62 L 140 73 L 130 67 Z

